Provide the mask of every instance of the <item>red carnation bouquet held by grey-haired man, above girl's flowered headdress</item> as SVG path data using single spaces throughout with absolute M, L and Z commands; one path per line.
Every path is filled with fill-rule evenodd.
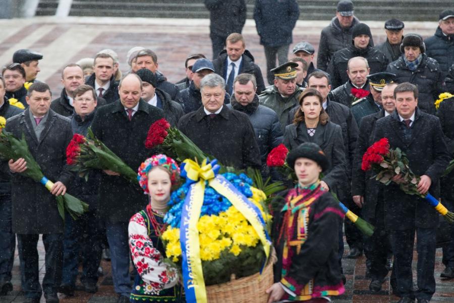
M 202 163 L 206 158 L 213 158 L 203 153 L 191 139 L 176 127 L 171 127 L 164 118 L 151 124 L 145 140 L 145 147 L 149 149 L 157 147 L 162 150 L 163 154 L 180 162 L 191 159 Z

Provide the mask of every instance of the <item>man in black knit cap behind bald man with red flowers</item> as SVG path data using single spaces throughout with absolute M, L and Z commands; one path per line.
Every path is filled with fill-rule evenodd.
M 329 62 L 327 73 L 331 76 L 334 88 L 349 80 L 347 75 L 348 61 L 354 57 L 364 57 L 369 63 L 371 73 L 386 70 L 388 60 L 385 55 L 370 44 L 372 34 L 369 26 L 364 23 L 355 25 L 352 29 L 352 44 L 335 52 Z

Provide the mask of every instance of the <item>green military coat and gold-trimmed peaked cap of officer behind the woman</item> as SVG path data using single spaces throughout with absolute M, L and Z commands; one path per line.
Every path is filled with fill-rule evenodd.
M 271 71 L 274 73 L 275 77 L 282 80 L 291 80 L 296 78 L 295 67 L 298 67 L 297 63 L 287 62 L 279 65 Z M 304 90 L 304 88 L 298 87 L 296 84 L 295 87 L 295 92 L 288 97 L 283 97 L 275 85 L 266 87 L 266 89 L 259 95 L 260 104 L 276 112 L 282 130 L 287 126 L 289 113 L 299 104 L 298 96 Z

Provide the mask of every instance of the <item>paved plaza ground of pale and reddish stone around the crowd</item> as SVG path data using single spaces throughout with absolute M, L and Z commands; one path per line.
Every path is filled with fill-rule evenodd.
M 383 22 L 367 22 L 374 36 L 375 44 L 385 40 Z M 329 21 L 298 21 L 294 30 L 294 44 L 301 40 L 311 42 L 318 48 L 321 29 Z M 406 22 L 405 32 L 417 32 L 424 37 L 432 35 L 435 22 Z M 35 17 L 31 19 L 0 20 L 0 65 L 11 62 L 14 51 L 19 48 L 30 48 L 44 55 L 39 66 L 41 72 L 37 79 L 47 82 L 52 88 L 54 97 L 60 95 L 61 72 L 63 67 L 84 57 L 93 57 L 103 48 L 112 48 L 119 55 L 120 69 L 128 71 L 126 53 L 132 46 L 151 48 L 158 56 L 159 70 L 171 82 L 184 78 L 184 61 L 187 55 L 203 53 L 211 58 L 211 41 L 209 39 L 209 21 L 204 19 L 145 19 L 145 18 L 81 18 L 68 17 Z M 252 20 L 246 22 L 243 30 L 247 48 L 254 55 L 255 62 L 265 72 L 263 47 Z M 293 45 L 292 45 L 293 46 Z M 316 61 L 316 60 L 314 60 Z M 266 79 L 266 77 L 264 77 Z M 346 255 L 348 246 L 346 246 Z M 40 242 L 40 278 L 44 275 L 44 248 Z M 415 252 L 414 268 L 417 255 Z M 116 302 L 113 292 L 110 263 L 102 261 L 104 276 L 100 278 L 99 291 L 87 294 L 77 291 L 74 297 L 61 297 L 63 303 L 75 302 Z M 433 302 L 454 303 L 454 279 L 440 279 L 444 266 L 441 264 L 441 249 L 437 249 L 435 276 L 437 288 Z M 383 290 L 378 294 L 369 291 L 369 280 L 365 279 L 365 258 L 344 259 L 344 271 L 347 277 L 346 293 L 335 298 L 336 303 L 395 302 L 398 297 L 390 295 L 389 278 Z M 9 296 L 0 297 L 0 303 L 22 302 L 19 260 L 14 264 L 14 291 Z M 416 279 L 416 270 L 414 270 Z M 416 283 L 416 281 L 415 281 Z M 41 299 L 44 302 L 44 298 Z

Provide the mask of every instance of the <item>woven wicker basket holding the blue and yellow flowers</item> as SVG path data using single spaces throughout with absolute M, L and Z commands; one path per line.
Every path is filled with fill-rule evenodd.
M 230 282 L 207 286 L 208 303 L 266 302 L 268 294 L 265 291 L 273 284 L 273 263 L 275 262 L 276 255 L 272 249 L 271 258 L 261 275 L 256 273 L 238 280 L 232 277 Z

